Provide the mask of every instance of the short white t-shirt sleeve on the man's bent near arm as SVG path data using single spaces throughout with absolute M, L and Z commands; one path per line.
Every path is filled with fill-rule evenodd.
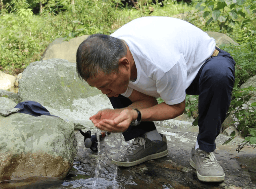
M 156 81 L 157 93 L 160 94 L 166 104 L 178 104 L 185 100 L 187 75 L 184 61 L 179 60 L 177 64 Z

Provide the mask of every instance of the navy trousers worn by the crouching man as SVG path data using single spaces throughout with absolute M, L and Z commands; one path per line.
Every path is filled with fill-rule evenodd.
M 198 144 L 201 150 L 213 152 L 215 139 L 220 133 L 222 122 L 226 118 L 235 81 L 235 61 L 229 53 L 219 50 L 219 54 L 209 58 L 200 68 L 196 78 L 186 89 L 186 94 L 199 94 L 199 134 Z M 122 96 L 109 98 L 113 108 L 123 108 L 132 102 Z M 129 127 L 123 133 L 125 141 L 155 130 L 153 122 L 141 122 Z

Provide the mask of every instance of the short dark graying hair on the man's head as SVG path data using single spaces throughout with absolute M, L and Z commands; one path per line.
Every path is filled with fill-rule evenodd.
M 99 71 L 106 75 L 118 72 L 118 61 L 127 53 L 125 43 L 103 34 L 90 35 L 77 49 L 77 73 L 88 80 Z

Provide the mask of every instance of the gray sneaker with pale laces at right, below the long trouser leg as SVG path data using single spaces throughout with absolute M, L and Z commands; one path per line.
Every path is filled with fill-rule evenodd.
M 225 173 L 213 152 L 205 152 L 195 146 L 191 150 L 190 165 L 196 169 L 196 175 L 203 182 L 222 182 Z

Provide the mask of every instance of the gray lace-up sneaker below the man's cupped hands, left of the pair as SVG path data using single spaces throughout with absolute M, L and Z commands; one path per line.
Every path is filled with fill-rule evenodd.
M 125 152 L 119 152 L 112 158 L 112 163 L 121 167 L 131 167 L 151 159 L 167 156 L 167 140 L 163 134 L 162 141 L 149 140 L 143 134 L 136 137 Z

